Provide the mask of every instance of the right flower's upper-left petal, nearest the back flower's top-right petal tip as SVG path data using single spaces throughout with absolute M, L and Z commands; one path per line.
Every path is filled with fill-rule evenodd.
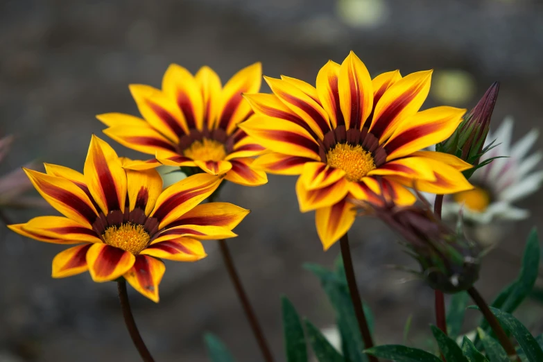
M 307 123 L 307 126 L 319 139 L 323 139 L 324 135 L 330 130 L 330 124 L 328 114 L 320 104 L 291 82 L 266 76 L 264 79 L 277 98 Z

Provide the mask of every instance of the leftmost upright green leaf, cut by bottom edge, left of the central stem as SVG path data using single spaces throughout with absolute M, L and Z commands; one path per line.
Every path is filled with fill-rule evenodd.
M 307 362 L 307 347 L 300 316 L 288 298 L 281 298 L 286 361 Z

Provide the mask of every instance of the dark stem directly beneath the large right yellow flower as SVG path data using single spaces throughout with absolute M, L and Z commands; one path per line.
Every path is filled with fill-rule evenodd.
M 349 286 L 349 292 L 351 294 L 352 306 L 354 307 L 356 320 L 359 322 L 359 329 L 364 341 L 364 348 L 368 349 L 373 347 L 372 334 L 370 332 L 370 328 L 368 327 L 368 320 L 365 319 L 359 288 L 356 286 L 356 277 L 354 277 L 354 268 L 352 266 L 351 247 L 349 245 L 349 236 L 347 236 L 347 233 L 341 236 L 339 243 L 341 245 L 341 257 L 343 258 L 345 277 L 347 277 L 347 285 Z M 379 361 L 375 356 L 368 356 L 368 358 L 372 362 Z

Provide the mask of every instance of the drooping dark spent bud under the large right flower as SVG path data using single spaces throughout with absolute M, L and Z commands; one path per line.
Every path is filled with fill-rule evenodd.
M 466 239 L 461 228 L 455 232 L 442 223 L 429 207 L 397 207 L 390 202 L 357 205 L 404 236 L 406 252 L 418 261 L 420 275 L 432 288 L 457 293 L 479 279 L 477 245 Z

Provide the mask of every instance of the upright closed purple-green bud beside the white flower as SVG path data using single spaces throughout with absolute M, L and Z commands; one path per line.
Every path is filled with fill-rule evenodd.
M 479 103 L 464 115 L 464 120 L 451 137 L 436 145 L 436 150 L 456 155 L 465 162 L 477 166 L 481 155 L 492 148 L 492 145 L 485 147 L 485 139 L 490 128 L 490 119 L 498 92 L 499 83 L 494 82 Z M 478 168 L 474 167 L 465 171 L 466 178 L 469 178 Z

